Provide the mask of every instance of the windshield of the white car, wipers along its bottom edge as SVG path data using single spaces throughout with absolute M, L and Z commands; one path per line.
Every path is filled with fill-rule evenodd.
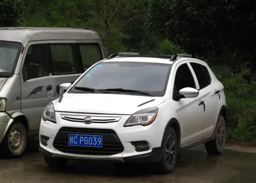
M 163 96 L 172 65 L 150 62 L 100 62 L 69 92 Z

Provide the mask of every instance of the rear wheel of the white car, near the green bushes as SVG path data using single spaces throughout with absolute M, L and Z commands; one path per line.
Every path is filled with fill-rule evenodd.
M 223 152 L 226 138 L 227 138 L 227 125 L 222 115 L 218 117 L 217 133 L 213 140 L 205 143 L 205 149 L 209 154 L 221 154 Z

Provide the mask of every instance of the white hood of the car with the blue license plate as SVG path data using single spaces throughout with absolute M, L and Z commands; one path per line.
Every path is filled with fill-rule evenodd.
M 54 101 L 58 112 L 132 114 L 143 108 L 157 106 L 163 97 L 124 94 L 64 94 Z M 145 104 L 144 104 L 145 103 Z

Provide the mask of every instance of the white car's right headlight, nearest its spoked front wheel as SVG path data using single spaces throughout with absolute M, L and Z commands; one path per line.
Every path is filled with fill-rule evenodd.
M 157 107 L 150 107 L 145 108 L 143 110 L 139 110 L 138 112 L 132 114 L 131 117 L 129 117 L 129 119 L 127 119 L 124 126 L 147 126 L 155 121 L 157 113 Z

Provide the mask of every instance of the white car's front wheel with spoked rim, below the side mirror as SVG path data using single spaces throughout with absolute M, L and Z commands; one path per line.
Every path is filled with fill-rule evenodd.
M 174 144 L 173 144 L 174 142 Z M 161 160 L 158 163 L 158 170 L 160 173 L 173 172 L 178 155 L 177 136 L 172 127 L 169 127 L 164 132 L 163 143 L 161 147 Z M 172 159 L 170 159 L 172 157 Z

